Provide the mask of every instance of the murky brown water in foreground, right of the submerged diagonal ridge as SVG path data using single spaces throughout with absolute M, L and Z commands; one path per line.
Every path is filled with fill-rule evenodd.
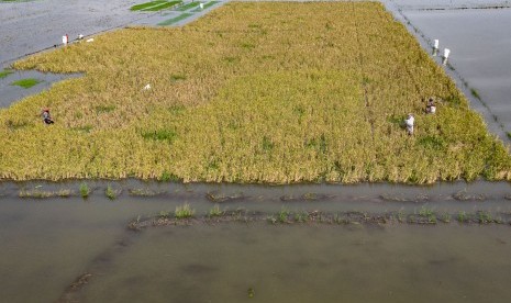
M 145 231 L 80 302 L 506 302 L 509 227 Z M 253 295 L 253 298 L 251 298 Z

